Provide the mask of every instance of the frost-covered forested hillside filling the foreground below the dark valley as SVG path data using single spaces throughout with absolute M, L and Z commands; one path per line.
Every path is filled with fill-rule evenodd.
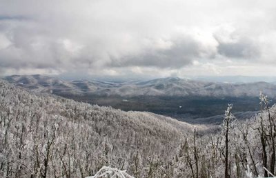
M 276 115 L 260 99 L 259 115 L 238 121 L 229 106 L 214 132 L 0 81 L 0 177 L 86 177 L 103 166 L 134 177 L 268 177 L 264 167 L 275 173 Z

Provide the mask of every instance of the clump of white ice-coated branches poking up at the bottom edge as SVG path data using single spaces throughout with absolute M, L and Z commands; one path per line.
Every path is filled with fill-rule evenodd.
M 135 178 L 128 173 L 126 170 L 119 170 L 117 168 L 110 168 L 108 166 L 103 166 L 94 176 L 86 177 L 86 178 Z

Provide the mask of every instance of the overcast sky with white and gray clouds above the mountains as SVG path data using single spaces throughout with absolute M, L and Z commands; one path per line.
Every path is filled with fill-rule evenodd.
M 0 0 L 0 75 L 275 76 L 275 0 Z

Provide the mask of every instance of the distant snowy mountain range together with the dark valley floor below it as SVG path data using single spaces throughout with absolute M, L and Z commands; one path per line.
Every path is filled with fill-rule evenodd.
M 147 81 L 64 81 L 42 75 L 4 78 L 33 92 L 51 93 L 124 111 L 146 111 L 188 123 L 220 124 L 228 103 L 239 119 L 259 110 L 259 91 L 275 103 L 274 83 L 221 83 L 168 77 Z

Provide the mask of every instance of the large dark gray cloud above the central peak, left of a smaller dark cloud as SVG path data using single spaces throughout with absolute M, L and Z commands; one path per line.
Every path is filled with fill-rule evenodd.
M 179 36 L 172 39 L 171 45 L 164 49 L 146 49 L 139 55 L 121 57 L 121 59 L 113 59 L 109 63 L 109 67 L 124 66 L 152 66 L 159 68 L 182 68 L 200 59 L 202 56 L 211 58 L 215 55 L 215 51 L 206 49 L 200 41 L 190 36 Z

